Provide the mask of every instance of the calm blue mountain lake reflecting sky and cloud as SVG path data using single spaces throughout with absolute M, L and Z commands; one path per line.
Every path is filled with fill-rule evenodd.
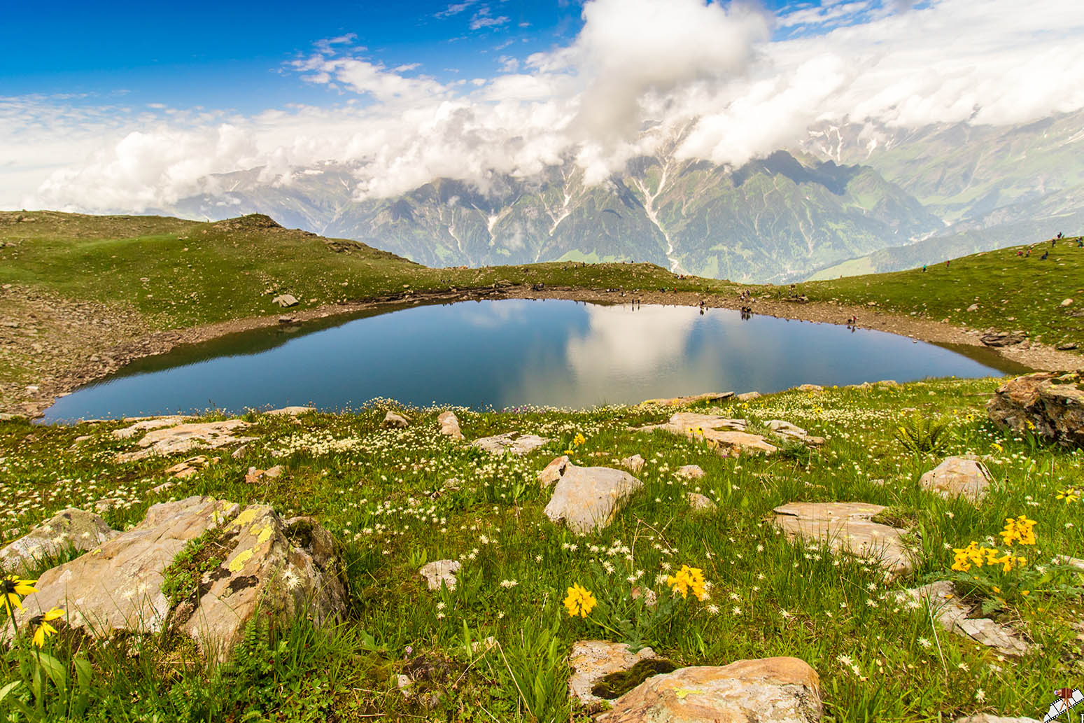
M 968 353 L 982 350 L 968 349 Z M 846 326 L 691 307 L 564 300 L 414 306 L 245 332 L 142 359 L 56 401 L 46 422 L 376 397 L 475 409 L 584 408 L 705 391 L 1015 373 L 991 353 Z

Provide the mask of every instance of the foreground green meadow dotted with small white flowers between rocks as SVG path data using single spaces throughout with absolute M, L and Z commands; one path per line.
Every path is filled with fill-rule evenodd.
M 800 657 L 821 675 L 831 721 L 1034 715 L 1048 705 L 1051 682 L 1084 677 L 1075 628 L 1082 599 L 1073 589 L 1081 577 L 1034 584 L 1054 555 L 1084 557 L 1081 503 L 1056 500 L 1059 490 L 1084 486 L 1084 453 L 995 430 L 982 410 L 997 384 L 791 391 L 706 408 L 756 423 L 785 418 L 828 438 L 812 455 L 774 457 L 721 457 L 683 437 L 628 430 L 664 419 L 671 410 L 660 408 L 457 411 L 468 439 L 509 430 L 553 439 L 514 459 L 440 437 L 437 410 L 414 410 L 402 430 L 380 428 L 384 404 L 298 423 L 248 415 L 260 438 L 250 457 L 220 454 L 164 493 L 150 490 L 175 460 L 117 464 L 116 453 L 132 443 L 111 436 L 121 423 L 0 423 L 0 530 L 11 539 L 100 498 L 124 500 L 104 516 L 125 527 L 155 502 L 210 494 L 313 515 L 344 544 L 348 620 L 325 630 L 304 620 L 255 628 L 227 668 L 208 668 L 179 635 L 93 644 L 57 635 L 52 653 L 65 659 L 78 650 L 93 662 L 87 720 L 586 720 L 567 700 L 567 656 L 575 641 L 593 637 L 651 645 L 679 666 Z M 947 427 L 943 452 L 915 453 L 899 441 L 906 409 Z M 534 478 L 578 432 L 586 441 L 575 449 L 576 464 L 617 466 L 634 453 L 648 460 L 637 474 L 645 489 L 609 528 L 584 538 L 543 516 L 550 491 Z M 90 439 L 76 444 L 80 435 Z M 331 440 L 339 451 L 327 451 Z M 966 452 L 986 455 L 996 480 L 983 502 L 918 487 L 941 454 Z M 249 465 L 274 464 L 284 465 L 282 477 L 243 481 Z M 685 464 L 707 476 L 678 478 Z M 450 486 L 452 478 L 459 483 Z M 687 491 L 713 498 L 718 511 L 688 514 Z M 787 543 L 766 520 L 772 507 L 799 500 L 888 505 L 888 519 L 921 535 L 915 571 L 890 582 L 869 564 Z M 1029 565 L 995 572 L 969 594 L 993 601 L 992 615 L 1041 651 L 999 660 L 896 602 L 903 588 L 945 579 L 953 547 L 997 540 L 1005 518 L 1021 514 L 1037 520 Z M 442 558 L 462 560 L 460 584 L 428 592 L 417 569 Z M 710 601 L 671 595 L 664 576 L 683 564 L 704 570 Z M 569 618 L 560 604 L 573 582 L 598 598 L 586 620 Z M 654 590 L 658 607 L 633 601 L 633 586 Z M 0 655 L 0 680 L 17 674 L 17 658 Z M 399 674 L 415 680 L 410 696 L 397 688 Z

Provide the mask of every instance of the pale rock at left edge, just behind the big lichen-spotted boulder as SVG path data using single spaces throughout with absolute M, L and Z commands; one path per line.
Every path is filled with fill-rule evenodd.
M 0 550 L 0 568 L 18 573 L 69 548 L 86 552 L 120 534 L 91 512 L 68 507 Z

